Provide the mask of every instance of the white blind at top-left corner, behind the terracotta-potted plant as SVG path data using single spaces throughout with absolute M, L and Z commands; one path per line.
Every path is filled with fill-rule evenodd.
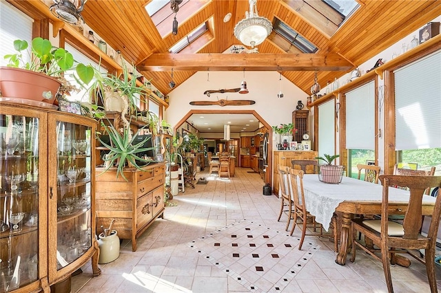
M 5 66 L 8 61 L 3 56 L 17 52 L 15 40 L 25 40 L 30 46 L 33 20 L 6 1 L 0 1 L 0 15 L 0 66 Z M 29 61 L 27 53 L 23 54 L 23 61 Z

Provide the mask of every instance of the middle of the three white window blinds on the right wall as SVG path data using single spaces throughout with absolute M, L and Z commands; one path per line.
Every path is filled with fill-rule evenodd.
M 347 149 L 375 149 L 375 83 L 346 94 Z

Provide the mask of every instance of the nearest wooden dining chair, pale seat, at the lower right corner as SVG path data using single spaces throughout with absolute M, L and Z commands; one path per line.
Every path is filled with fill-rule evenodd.
M 433 215 L 427 237 L 420 234 L 422 226 L 422 198 L 427 186 L 441 187 L 441 176 L 412 176 L 412 175 L 380 175 L 382 182 L 382 204 L 381 219 L 353 219 L 352 226 L 352 257 L 351 262 L 355 262 L 356 248 L 365 250 L 372 257 L 382 261 L 384 278 L 386 279 L 387 289 L 393 292 L 390 264 L 395 262 L 396 253 L 408 253 L 418 261 L 426 265 L 427 277 L 431 292 L 438 292 L 435 278 L 435 245 L 440 224 L 441 197 L 436 198 L 433 208 Z M 404 215 L 402 224 L 389 221 L 389 187 L 406 186 L 409 188 L 409 200 L 407 212 Z M 357 232 L 365 234 L 373 244 L 380 249 L 367 248 L 362 243 L 356 241 Z M 387 237 L 385 237 L 387 235 Z M 425 250 L 425 257 L 419 255 L 419 250 Z M 376 255 L 380 252 L 380 257 Z

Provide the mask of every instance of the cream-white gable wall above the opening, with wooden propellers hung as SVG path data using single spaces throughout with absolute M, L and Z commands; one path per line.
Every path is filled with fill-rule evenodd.
M 165 110 L 165 120 L 176 127 L 176 123 L 191 109 L 201 110 L 254 110 L 268 124 L 292 122 L 292 111 L 296 109 L 297 101 L 302 100 L 306 105 L 307 94 L 296 85 L 282 77 L 283 98 L 277 98 L 280 91 L 278 72 L 245 72 L 245 80 L 249 94 L 225 93 L 212 94 L 209 98 L 203 93 L 207 89 L 234 89 L 240 87 L 243 72 L 197 72 L 178 85 L 170 92 L 170 107 Z M 313 81 L 311 80 L 311 84 Z M 192 106 L 194 100 L 255 100 L 256 104 L 248 106 Z

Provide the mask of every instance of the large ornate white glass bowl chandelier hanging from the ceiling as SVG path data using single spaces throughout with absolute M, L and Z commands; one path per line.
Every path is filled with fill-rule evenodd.
M 257 0 L 249 0 L 249 11 L 234 27 L 234 36 L 246 46 L 254 48 L 265 41 L 271 34 L 273 26 L 265 17 L 259 17 L 256 7 Z

